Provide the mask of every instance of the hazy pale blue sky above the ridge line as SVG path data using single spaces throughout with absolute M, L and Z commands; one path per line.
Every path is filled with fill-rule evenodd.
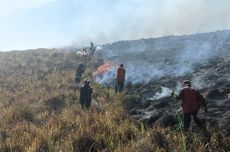
M 0 0 L 0 51 L 230 29 L 230 0 Z

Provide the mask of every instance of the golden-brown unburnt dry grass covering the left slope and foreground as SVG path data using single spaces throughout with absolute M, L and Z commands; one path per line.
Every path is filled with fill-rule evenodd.
M 73 89 L 79 56 L 55 51 L 22 54 L 6 53 L 1 58 L 0 151 L 230 150 L 230 137 L 222 133 L 213 132 L 207 142 L 199 133 L 185 136 L 180 131 L 145 128 L 126 114 L 123 95 L 95 83 L 92 87 L 102 106 L 93 101 L 84 111 L 78 89 Z M 15 73 L 18 65 L 21 70 Z

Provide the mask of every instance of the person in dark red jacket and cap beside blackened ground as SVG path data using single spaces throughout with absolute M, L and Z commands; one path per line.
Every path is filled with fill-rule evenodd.
M 191 87 L 191 82 L 185 80 L 183 83 L 183 88 L 181 89 L 178 96 L 176 96 L 177 100 L 181 100 L 181 107 L 184 115 L 184 131 L 187 132 L 189 130 L 191 116 L 195 123 L 204 128 L 201 121 L 197 117 L 197 113 L 200 109 L 200 106 L 204 107 L 205 112 L 207 112 L 207 105 L 204 97 L 193 87 Z

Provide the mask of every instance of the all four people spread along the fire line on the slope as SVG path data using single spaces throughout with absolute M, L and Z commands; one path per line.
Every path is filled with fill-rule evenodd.
M 75 82 L 80 82 L 82 71 L 84 69 L 83 64 L 80 64 L 79 66 L 80 67 L 77 69 L 76 72 L 80 71 L 80 74 L 76 74 Z M 126 70 L 124 68 L 124 65 L 120 64 L 117 69 L 116 76 L 116 93 L 121 93 L 124 88 L 125 74 Z M 80 104 L 82 109 L 89 109 L 91 105 L 91 96 L 93 93 L 93 89 L 90 87 L 89 83 L 89 79 L 84 79 L 84 85 L 80 88 Z M 207 104 L 200 92 L 191 86 L 191 82 L 188 80 L 184 81 L 183 88 L 181 89 L 179 95 L 175 95 L 174 92 L 172 92 L 171 95 L 176 96 L 176 99 L 181 101 L 181 108 L 184 118 L 184 131 L 187 132 L 189 130 L 191 117 L 193 117 L 195 123 L 199 127 L 204 128 L 203 124 L 197 117 L 197 114 L 201 106 L 204 107 L 204 110 L 207 112 Z

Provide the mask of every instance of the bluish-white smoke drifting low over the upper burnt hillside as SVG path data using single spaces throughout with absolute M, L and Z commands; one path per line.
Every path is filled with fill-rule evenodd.
M 174 36 L 158 39 L 120 41 L 100 46 L 96 52 L 115 65 L 123 63 L 126 82 L 144 83 L 164 76 L 182 76 L 192 73 L 202 64 L 227 53 L 230 31 Z M 118 66 L 117 66 L 118 67 Z M 101 83 L 115 79 L 113 74 L 98 80 Z M 111 77 L 110 77 L 111 76 Z M 112 77 L 113 76 L 113 77 Z M 202 88 L 203 77 L 194 78 L 193 84 Z

